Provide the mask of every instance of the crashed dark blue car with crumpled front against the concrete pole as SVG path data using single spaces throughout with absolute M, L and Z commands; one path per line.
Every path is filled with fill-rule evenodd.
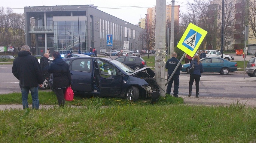
M 153 78 L 155 73 L 150 68 L 134 71 L 117 60 L 100 57 L 63 60 L 69 64 L 75 94 L 123 97 L 132 101 L 152 97 L 152 102 L 160 96 Z

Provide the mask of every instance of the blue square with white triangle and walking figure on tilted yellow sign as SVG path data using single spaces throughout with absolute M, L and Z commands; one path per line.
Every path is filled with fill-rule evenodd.
M 202 34 L 190 29 L 182 45 L 193 51 L 201 37 Z

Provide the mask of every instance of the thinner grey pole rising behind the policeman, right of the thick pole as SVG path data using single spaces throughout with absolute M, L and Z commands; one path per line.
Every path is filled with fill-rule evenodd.
M 171 58 L 172 53 L 174 52 L 174 2 L 175 2 L 175 0 L 172 0 L 170 58 Z M 168 57 L 168 56 L 167 56 L 167 57 Z

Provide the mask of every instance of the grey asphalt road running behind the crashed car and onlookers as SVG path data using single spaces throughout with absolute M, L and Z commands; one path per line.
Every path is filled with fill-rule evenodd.
M 0 94 L 20 92 L 19 80 L 13 76 L 11 69 L 11 64 L 0 65 Z M 181 72 L 179 95 L 188 95 L 189 76 Z M 256 78 L 251 78 L 247 74 L 245 75 L 245 79 L 243 79 L 242 72 L 232 72 L 226 76 L 219 73 L 203 73 L 199 84 L 199 96 L 256 98 L 255 82 Z M 195 96 L 195 83 L 192 87 L 192 96 Z

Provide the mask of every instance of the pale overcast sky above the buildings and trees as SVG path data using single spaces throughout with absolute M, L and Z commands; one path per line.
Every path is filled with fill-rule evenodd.
M 171 4 L 172 0 L 166 0 Z M 193 0 L 188 0 L 190 3 Z M 139 19 L 145 18 L 147 8 L 154 7 L 156 0 L 1 0 L 1 6 L 10 7 L 14 13 L 24 13 L 26 6 L 52 6 L 52 5 L 86 5 L 94 4 L 99 10 L 132 24 L 138 24 Z M 187 0 L 175 0 L 175 5 L 180 5 L 180 11 L 187 7 Z

